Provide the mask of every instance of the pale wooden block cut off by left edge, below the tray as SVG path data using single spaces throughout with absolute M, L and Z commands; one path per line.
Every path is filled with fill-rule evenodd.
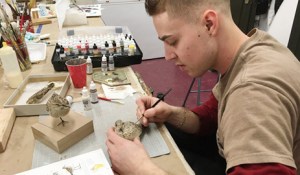
M 0 109 L 0 153 L 5 151 L 15 119 L 13 108 Z

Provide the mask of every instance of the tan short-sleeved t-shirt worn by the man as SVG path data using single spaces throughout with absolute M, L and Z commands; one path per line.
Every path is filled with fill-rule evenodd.
M 267 33 L 248 35 L 213 89 L 226 170 L 249 163 L 300 168 L 300 63 Z

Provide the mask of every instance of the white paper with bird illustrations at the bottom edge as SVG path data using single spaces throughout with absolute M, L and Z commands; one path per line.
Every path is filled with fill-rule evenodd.
M 69 168 L 70 173 L 66 170 Z M 86 154 L 61 160 L 40 168 L 19 173 L 18 175 L 113 175 L 106 157 L 101 149 Z

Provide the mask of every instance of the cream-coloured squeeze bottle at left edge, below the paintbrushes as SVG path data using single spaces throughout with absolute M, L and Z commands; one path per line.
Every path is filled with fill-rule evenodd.
M 7 46 L 3 42 L 3 47 L 0 49 L 0 58 L 3 64 L 4 75 L 11 88 L 17 88 L 23 81 L 23 76 L 19 67 L 17 56 L 13 48 Z

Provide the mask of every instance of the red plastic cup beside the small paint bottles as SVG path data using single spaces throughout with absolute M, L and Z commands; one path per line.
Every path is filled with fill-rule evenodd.
M 70 59 L 66 65 L 75 88 L 86 86 L 86 60 Z

